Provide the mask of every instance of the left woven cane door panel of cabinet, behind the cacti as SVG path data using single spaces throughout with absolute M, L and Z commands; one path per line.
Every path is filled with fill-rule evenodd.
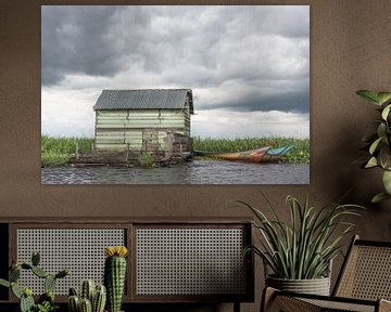
M 17 229 L 17 261 L 30 263 L 31 252 L 40 253 L 40 266 L 50 274 L 68 269 L 71 274 L 56 283 L 54 292 L 67 295 L 80 281 L 103 282 L 104 247 L 125 245 L 124 229 Z M 41 294 L 43 280 L 23 271 L 20 284 Z

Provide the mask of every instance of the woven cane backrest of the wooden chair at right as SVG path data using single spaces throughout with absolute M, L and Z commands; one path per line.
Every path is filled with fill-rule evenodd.
M 353 237 L 333 296 L 391 300 L 391 242 Z

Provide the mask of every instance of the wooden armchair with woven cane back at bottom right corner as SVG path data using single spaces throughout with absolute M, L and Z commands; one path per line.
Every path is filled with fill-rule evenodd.
M 354 236 L 332 296 L 302 295 L 266 287 L 262 312 L 391 311 L 391 242 Z

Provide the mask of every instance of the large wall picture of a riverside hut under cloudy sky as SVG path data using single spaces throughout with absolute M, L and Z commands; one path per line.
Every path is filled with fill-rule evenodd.
M 42 5 L 42 184 L 308 184 L 308 5 Z

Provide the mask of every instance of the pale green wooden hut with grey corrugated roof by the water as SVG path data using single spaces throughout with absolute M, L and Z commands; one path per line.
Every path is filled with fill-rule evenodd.
M 161 158 L 191 152 L 189 89 L 103 90 L 93 109 L 96 152 Z

